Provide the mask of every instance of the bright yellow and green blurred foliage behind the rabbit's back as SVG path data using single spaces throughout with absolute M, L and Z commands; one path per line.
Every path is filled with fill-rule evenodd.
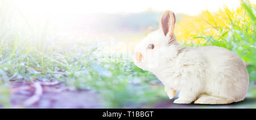
M 256 5 L 241 1 L 230 10 L 224 6 L 216 13 L 203 11 L 197 16 L 184 16 L 175 30 L 177 39 L 190 46 L 216 45 L 236 52 L 245 63 L 250 80 L 256 80 Z

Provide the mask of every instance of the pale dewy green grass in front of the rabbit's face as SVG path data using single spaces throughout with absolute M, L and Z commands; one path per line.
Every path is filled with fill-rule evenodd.
M 46 46 L 9 40 L 1 47 L 1 81 L 57 80 L 76 89 L 94 90 L 114 108 L 142 107 L 139 105 L 165 98 L 156 77 L 122 55 L 101 55 L 88 43 L 56 43 L 54 48 L 42 51 Z

